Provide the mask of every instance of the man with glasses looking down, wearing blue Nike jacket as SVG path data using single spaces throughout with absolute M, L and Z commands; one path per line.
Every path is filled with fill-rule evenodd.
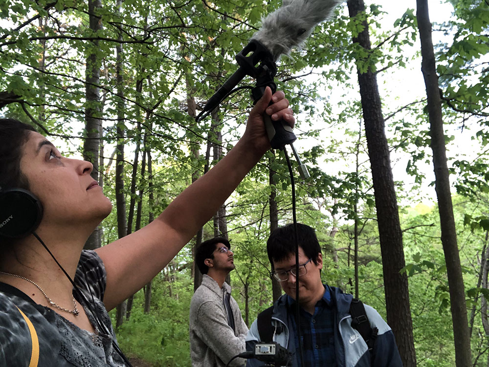
M 352 327 L 350 304 L 353 296 L 339 288 L 323 284 L 323 258 L 314 229 L 297 224 L 299 269 L 295 265 L 294 225 L 273 231 L 267 241 L 271 276 L 280 282 L 285 295 L 263 311 L 253 322 L 246 337 L 246 350 L 255 350 L 257 343 L 276 342 L 292 354 L 292 367 L 401 367 L 394 334 L 378 312 L 367 305 L 366 316 L 377 332 L 371 350 L 360 333 Z M 297 336 L 296 284 L 299 285 L 301 342 Z M 371 338 L 372 339 L 372 338 Z M 263 366 L 249 359 L 246 366 Z

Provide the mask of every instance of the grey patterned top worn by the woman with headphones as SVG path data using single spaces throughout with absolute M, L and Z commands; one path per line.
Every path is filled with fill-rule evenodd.
M 0 366 L 29 365 L 32 341 L 19 307 L 34 325 L 39 338 L 39 367 L 122 367 L 123 359 L 114 350 L 115 335 L 104 303 L 106 273 L 102 260 L 93 251 L 82 252 L 75 284 L 89 308 L 83 305 L 97 333 L 81 329 L 51 309 L 35 303 L 19 289 L 0 282 Z M 90 294 L 90 290 L 91 294 Z M 90 312 L 93 309 L 103 329 Z

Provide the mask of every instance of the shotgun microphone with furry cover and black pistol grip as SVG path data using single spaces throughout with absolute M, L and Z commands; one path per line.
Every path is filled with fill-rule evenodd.
M 275 92 L 273 77 L 277 72 L 276 62 L 282 54 L 289 54 L 294 46 L 300 46 L 314 27 L 326 20 L 341 0 L 284 0 L 282 6 L 262 18 L 262 27 L 253 34 L 250 42 L 236 55 L 240 67 L 207 101 L 197 116 L 200 121 L 233 92 L 246 76 L 257 80 L 252 96 L 256 103 L 269 86 Z M 258 65 L 258 66 L 257 66 Z M 309 177 L 306 165 L 302 164 L 292 143 L 296 136 L 285 121 L 273 121 L 264 115 L 268 139 L 273 149 L 283 149 L 290 144 L 299 164 L 303 179 Z

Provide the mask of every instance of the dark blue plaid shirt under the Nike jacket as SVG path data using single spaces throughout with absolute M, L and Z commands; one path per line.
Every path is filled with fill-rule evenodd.
M 300 347 L 297 338 L 297 326 L 295 324 L 295 301 L 288 297 L 290 305 L 289 317 L 292 319 L 294 339 L 296 346 L 297 363 L 300 366 Z M 303 366 L 308 367 L 335 367 L 336 355 L 334 350 L 334 313 L 331 294 L 326 287 L 323 298 L 314 308 L 314 314 L 300 308 L 301 341 L 304 350 Z

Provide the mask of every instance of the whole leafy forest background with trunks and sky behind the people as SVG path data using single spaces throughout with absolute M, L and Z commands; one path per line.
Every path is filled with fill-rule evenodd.
M 299 178 L 292 162 L 297 220 L 316 230 L 323 281 L 379 311 L 407 349 L 405 366 L 463 366 L 462 355 L 489 366 L 489 3 L 429 4 L 431 85 L 422 69 L 422 3 L 340 3 L 278 61 L 275 83 L 294 110 L 294 145 L 311 173 Z M 92 176 L 114 204 L 87 242 L 97 248 L 151 222 L 237 142 L 252 108 L 249 88 L 195 118 L 281 1 L 0 4 L 0 115 L 93 163 Z M 245 76 L 240 86 L 255 82 Z M 432 108 L 443 123 L 436 144 Z M 439 167 L 449 175 L 448 198 Z M 271 229 L 292 222 L 291 184 L 284 152 L 268 151 L 178 256 L 111 312 L 134 361 L 190 364 L 188 310 L 201 277 L 193 254 L 202 240 L 230 239 L 230 283 L 248 326 L 277 298 L 266 241 Z M 459 258 L 457 288 L 446 237 Z M 412 322 L 395 316 L 405 315 L 404 304 L 392 289 L 408 296 L 403 312 Z M 455 295 L 466 305 L 462 325 Z M 464 332 L 467 343 L 455 346 Z

